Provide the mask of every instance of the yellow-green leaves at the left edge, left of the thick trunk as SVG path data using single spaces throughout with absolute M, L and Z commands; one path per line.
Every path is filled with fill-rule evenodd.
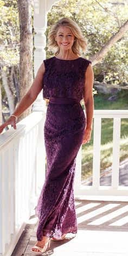
M 0 1 L 0 59 L 2 65 L 19 62 L 19 24 L 17 1 Z

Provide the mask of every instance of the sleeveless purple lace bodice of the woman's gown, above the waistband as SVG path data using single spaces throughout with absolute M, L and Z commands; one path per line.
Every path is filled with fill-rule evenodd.
M 79 57 L 75 60 L 61 60 L 55 56 L 43 60 L 43 98 L 83 98 L 85 71 L 91 61 Z

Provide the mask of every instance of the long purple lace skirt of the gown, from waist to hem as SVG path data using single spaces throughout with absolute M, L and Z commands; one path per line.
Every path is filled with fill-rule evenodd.
M 37 240 L 77 233 L 74 201 L 76 155 L 82 144 L 86 118 L 80 103 L 48 104 L 44 124 L 47 172 L 37 202 Z

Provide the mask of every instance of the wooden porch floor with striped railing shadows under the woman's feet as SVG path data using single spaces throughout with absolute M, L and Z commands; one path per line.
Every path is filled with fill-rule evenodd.
M 78 233 L 67 234 L 63 241 L 51 241 L 42 255 L 54 256 L 127 256 L 128 203 L 75 200 Z M 37 217 L 30 217 L 11 256 L 32 256 L 36 242 Z M 37 254 L 35 254 L 37 255 Z M 40 254 L 38 254 L 40 255 Z

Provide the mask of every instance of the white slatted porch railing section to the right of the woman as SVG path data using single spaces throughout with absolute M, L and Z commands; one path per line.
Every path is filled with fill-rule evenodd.
M 113 160 L 111 186 L 100 186 L 101 118 L 113 118 Z M 128 118 L 127 110 L 95 110 L 93 135 L 93 184 L 81 185 L 81 150 L 76 161 L 75 195 L 124 196 L 128 200 L 128 186 L 119 186 L 120 124 Z M 94 197 L 93 197 L 94 198 Z

